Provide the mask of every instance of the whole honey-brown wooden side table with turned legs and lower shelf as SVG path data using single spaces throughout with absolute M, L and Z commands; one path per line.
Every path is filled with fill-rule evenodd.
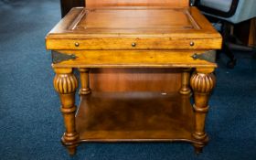
M 69 154 L 84 142 L 131 141 L 183 141 L 201 152 L 208 142 L 205 119 L 216 83 L 213 50 L 221 42 L 196 7 L 73 8 L 46 37 L 66 126 L 62 143 Z M 91 91 L 91 68 L 176 68 L 182 87 L 177 92 Z M 80 71 L 78 111 L 73 69 Z

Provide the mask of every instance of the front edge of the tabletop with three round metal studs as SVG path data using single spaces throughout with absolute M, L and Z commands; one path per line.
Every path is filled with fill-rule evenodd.
M 89 38 L 89 39 L 47 39 L 48 49 L 86 50 L 145 50 L 145 49 L 219 49 L 220 38 L 173 39 L 173 38 Z

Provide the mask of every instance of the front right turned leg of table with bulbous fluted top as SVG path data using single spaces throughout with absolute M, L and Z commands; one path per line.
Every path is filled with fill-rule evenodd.
M 197 144 L 193 144 L 196 153 L 202 152 L 203 147 L 208 143 L 208 135 L 205 133 L 205 120 L 208 113 L 208 99 L 213 90 L 216 79 L 212 73 L 214 69 L 197 69 L 192 75 L 190 85 L 194 91 L 195 104 L 195 131 L 193 137 Z

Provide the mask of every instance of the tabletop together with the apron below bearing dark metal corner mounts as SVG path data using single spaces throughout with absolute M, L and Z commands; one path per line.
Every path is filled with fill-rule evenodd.
M 196 7 L 78 7 L 46 37 L 55 67 L 215 68 L 221 45 Z

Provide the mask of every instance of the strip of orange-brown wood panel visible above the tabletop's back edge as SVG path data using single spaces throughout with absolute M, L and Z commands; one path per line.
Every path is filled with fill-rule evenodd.
M 86 0 L 87 7 L 99 6 L 188 6 L 188 0 Z

